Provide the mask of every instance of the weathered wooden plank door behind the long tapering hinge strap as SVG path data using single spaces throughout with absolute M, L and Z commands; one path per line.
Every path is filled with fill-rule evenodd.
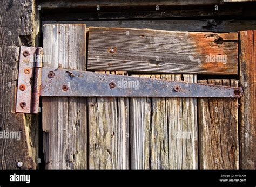
M 43 67 L 239 84 L 238 33 L 46 24 L 43 37 Z M 242 77 L 250 69 L 240 68 Z M 239 154 L 240 104 L 235 98 L 43 97 L 46 169 L 239 169 L 248 149 L 242 145 Z M 240 129 L 248 126 L 253 129 L 246 123 Z

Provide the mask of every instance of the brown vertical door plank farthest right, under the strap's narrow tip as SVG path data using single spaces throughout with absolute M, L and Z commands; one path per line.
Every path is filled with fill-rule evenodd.
M 238 80 L 198 80 L 198 83 L 238 86 Z M 238 100 L 199 98 L 200 169 L 239 169 Z

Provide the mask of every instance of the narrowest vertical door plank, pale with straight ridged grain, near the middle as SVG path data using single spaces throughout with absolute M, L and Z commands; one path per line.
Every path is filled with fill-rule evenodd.
M 132 75 L 150 78 L 150 75 Z M 130 98 L 131 169 L 150 169 L 151 99 Z

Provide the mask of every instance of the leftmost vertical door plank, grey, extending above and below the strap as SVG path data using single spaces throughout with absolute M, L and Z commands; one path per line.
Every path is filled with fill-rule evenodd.
M 44 25 L 43 47 L 44 67 L 86 70 L 84 24 Z M 86 98 L 43 98 L 46 169 L 87 169 L 86 112 Z

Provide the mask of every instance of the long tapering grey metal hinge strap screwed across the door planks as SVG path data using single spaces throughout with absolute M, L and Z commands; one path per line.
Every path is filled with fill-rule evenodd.
M 55 97 L 230 97 L 242 89 L 89 71 L 43 68 L 41 96 Z

